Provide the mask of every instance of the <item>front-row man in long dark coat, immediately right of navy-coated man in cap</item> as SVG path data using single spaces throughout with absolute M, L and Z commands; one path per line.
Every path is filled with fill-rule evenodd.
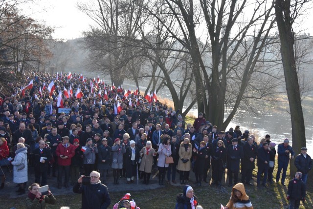
M 249 137 L 247 143 L 243 147 L 244 157 L 241 164 L 241 182 L 252 186 L 250 179 L 252 178 L 252 171 L 255 168 L 254 162 L 257 157 L 257 148 L 253 145 L 253 139 Z

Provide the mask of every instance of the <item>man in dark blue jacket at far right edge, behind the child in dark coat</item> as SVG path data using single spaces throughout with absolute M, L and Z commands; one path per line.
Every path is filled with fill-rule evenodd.
M 312 169 L 312 158 L 307 154 L 307 147 L 303 146 L 301 148 L 301 153 L 295 157 L 294 165 L 297 171 L 302 173 L 302 181 L 307 183 L 308 173 Z

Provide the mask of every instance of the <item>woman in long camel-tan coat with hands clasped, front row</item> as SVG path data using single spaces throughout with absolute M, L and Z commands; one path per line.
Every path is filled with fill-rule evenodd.
M 180 184 L 186 184 L 191 169 L 190 159 L 192 157 L 192 145 L 188 138 L 185 138 L 179 146 L 179 160 L 177 169 L 179 170 Z

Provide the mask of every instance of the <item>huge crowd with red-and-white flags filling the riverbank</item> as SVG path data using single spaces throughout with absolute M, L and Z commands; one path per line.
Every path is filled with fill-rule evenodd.
M 177 171 L 179 183 L 186 185 L 194 171 L 196 186 L 212 178 L 211 185 L 221 187 L 226 173 L 228 186 L 236 185 L 231 198 L 236 201 L 239 192 L 246 198 L 243 184 L 253 185 L 255 161 L 257 186 L 274 182 L 276 144 L 268 134 L 258 143 L 249 130 L 242 133 L 239 125 L 226 132 L 219 130 L 202 113 L 193 124 L 186 124 L 179 110 L 161 104 L 156 94 L 144 97 L 138 89 L 116 88 L 99 78 L 38 73 L 22 84 L 8 86 L 11 95 L 0 97 L 0 189 L 11 165 L 19 194 L 25 193 L 29 167 L 34 169 L 36 183 L 30 191 L 57 177 L 57 188 L 73 186 L 80 193 L 85 189 L 80 187 L 82 175 L 96 171 L 99 182 L 106 185 L 111 183 L 106 178 L 111 169 L 115 185 L 121 178 L 127 184 L 138 178 L 148 185 L 157 167 L 159 185 L 165 185 L 165 180 L 176 184 Z M 302 147 L 297 155 L 284 139 L 277 154 L 275 182 L 285 185 L 288 164 L 295 158 L 301 173 L 297 178 L 306 183 L 312 168 L 307 148 Z M 184 191 L 185 196 L 187 193 Z M 34 191 L 29 198 L 36 195 Z M 300 199 L 305 200 L 305 192 Z M 53 195 L 48 195 L 41 203 L 53 201 Z

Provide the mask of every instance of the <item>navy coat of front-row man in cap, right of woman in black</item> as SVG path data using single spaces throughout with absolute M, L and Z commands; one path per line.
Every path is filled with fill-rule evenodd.
M 244 157 L 243 147 L 237 145 L 233 148 L 233 145 L 229 145 L 226 150 L 227 154 L 227 169 L 238 172 L 240 166 L 240 159 Z

